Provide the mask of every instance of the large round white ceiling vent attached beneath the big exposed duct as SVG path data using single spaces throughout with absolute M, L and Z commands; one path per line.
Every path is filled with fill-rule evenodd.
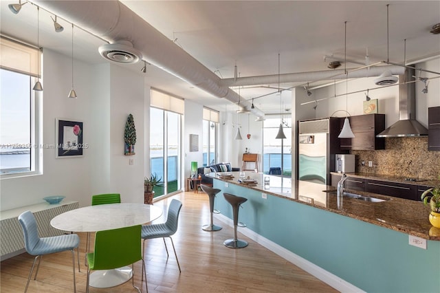
M 132 64 L 142 60 L 142 53 L 129 41 L 116 41 L 113 44 L 102 45 L 98 48 L 99 54 L 109 61 Z

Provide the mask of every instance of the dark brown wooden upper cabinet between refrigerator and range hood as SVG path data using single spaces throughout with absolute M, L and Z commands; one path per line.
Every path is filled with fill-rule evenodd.
M 385 129 L 385 114 L 366 114 L 349 117 L 355 138 L 341 138 L 341 149 L 355 151 L 374 151 L 385 149 L 385 139 L 376 135 Z M 342 124 L 340 125 L 342 129 Z

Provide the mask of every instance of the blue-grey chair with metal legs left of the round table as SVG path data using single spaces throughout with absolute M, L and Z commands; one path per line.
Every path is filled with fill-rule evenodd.
M 32 263 L 32 268 L 30 269 L 29 272 L 28 283 L 26 283 L 25 292 L 28 291 L 29 281 L 30 281 L 30 277 L 32 276 L 32 271 L 34 270 L 36 259 L 39 259 L 39 264 L 36 267 L 34 280 L 36 280 L 36 274 L 39 273 L 42 255 L 66 251 L 66 250 L 72 251 L 72 264 L 74 267 L 74 292 L 76 292 L 74 248 L 78 248 L 78 245 L 80 243 L 80 238 L 78 237 L 78 235 L 68 234 L 68 235 L 40 238 L 36 226 L 36 220 L 34 214 L 32 214 L 29 210 L 19 215 L 19 223 L 21 224 L 21 228 L 23 228 L 26 251 L 29 254 L 36 256 L 34 258 L 34 263 Z M 79 266 L 80 264 L 79 264 L 79 254 L 78 254 L 78 270 L 79 270 Z

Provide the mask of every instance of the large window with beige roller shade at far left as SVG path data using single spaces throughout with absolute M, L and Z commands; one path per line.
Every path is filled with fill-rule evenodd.
M 32 90 L 39 50 L 1 37 L 0 174 L 1 178 L 42 171 L 41 92 Z

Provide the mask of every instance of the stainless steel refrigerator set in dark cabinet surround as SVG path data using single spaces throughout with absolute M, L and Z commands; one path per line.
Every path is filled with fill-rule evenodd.
M 331 184 L 340 150 L 340 118 L 298 122 L 298 180 Z

